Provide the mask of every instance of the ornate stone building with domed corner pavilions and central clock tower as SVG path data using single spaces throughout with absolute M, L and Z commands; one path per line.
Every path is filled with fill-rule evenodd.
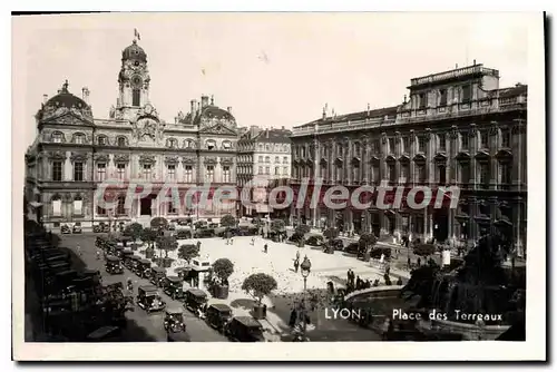
M 55 97 L 45 96 L 36 116 L 38 136 L 26 154 L 26 197 L 46 227 L 235 214 L 235 200 L 216 205 L 209 194 L 206 205 L 194 208 L 185 199 L 189 188 L 205 183 L 212 188 L 236 186 L 237 125 L 231 108 L 221 109 L 203 96 L 174 123 L 160 119 L 149 98 L 147 55 L 136 40 L 123 51 L 118 84 L 108 119 L 94 118 L 87 88 L 80 98 L 66 81 Z M 120 182 L 105 193 L 106 200 L 116 203 L 110 211 L 97 205 L 95 196 L 107 179 Z M 130 183 L 150 183 L 153 193 L 128 207 Z M 178 205 L 156 199 L 165 183 L 179 189 Z

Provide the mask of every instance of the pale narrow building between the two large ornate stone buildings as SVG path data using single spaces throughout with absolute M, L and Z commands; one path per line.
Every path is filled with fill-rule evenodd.
M 290 136 L 292 131 L 283 128 L 251 127 L 238 140 L 238 187 L 250 188 L 251 205 L 241 205 L 243 216 L 260 214 L 278 217 L 290 211 L 273 211 L 267 202 L 270 188 L 285 185 L 291 177 L 292 150 Z M 246 196 L 247 197 L 247 196 Z

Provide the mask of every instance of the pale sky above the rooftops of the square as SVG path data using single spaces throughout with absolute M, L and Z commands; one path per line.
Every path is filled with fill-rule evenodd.
M 213 95 L 238 126 L 292 128 L 321 117 L 402 102 L 410 79 L 483 63 L 500 86 L 528 82 L 526 13 L 114 13 L 12 19 L 13 99 L 25 141 L 42 95 L 68 79 L 90 90 L 96 118 L 118 96 L 121 51 L 140 35 L 150 100 L 174 123 L 190 99 Z M 537 16 L 539 17 L 539 16 Z M 534 18 L 538 20 L 538 18 Z M 19 125 L 19 123 L 18 123 Z

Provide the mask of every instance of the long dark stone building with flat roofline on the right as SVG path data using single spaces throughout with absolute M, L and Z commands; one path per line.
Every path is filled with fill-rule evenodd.
M 293 184 L 388 183 L 460 188 L 456 209 L 294 211 L 300 222 L 345 232 L 470 244 L 497 229 L 525 252 L 527 205 L 527 86 L 499 88 L 499 71 L 472 65 L 411 79 L 410 99 L 395 107 L 328 115 L 295 127 Z

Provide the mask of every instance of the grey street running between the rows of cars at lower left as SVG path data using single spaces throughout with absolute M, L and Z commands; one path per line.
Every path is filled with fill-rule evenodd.
M 110 275 L 105 271 L 105 260 L 102 255 L 100 260 L 97 260 L 97 248 L 95 247 L 94 234 L 80 234 L 80 235 L 61 235 L 61 246 L 68 247 L 74 253 L 77 254 L 77 246 L 81 247 L 80 261 L 87 268 L 98 270 L 102 277 L 102 284 L 113 284 L 121 282 L 125 284 L 126 280 L 129 277 L 134 281 L 134 298 L 137 296 L 137 288 L 140 285 L 150 284 L 146 278 L 140 278 L 127 268 L 124 268 L 124 273 L 119 275 Z M 182 307 L 182 302 L 174 301 L 168 297 L 163 291 L 159 291 L 163 300 L 166 302 L 167 307 Z M 147 314 L 139 306 L 135 306 L 134 311 L 127 312 L 126 317 L 128 319 L 128 326 L 123 332 L 123 341 L 128 342 L 140 342 L 140 341 L 166 341 L 166 331 L 163 326 L 165 313 L 152 313 Z M 187 333 L 189 334 L 193 342 L 208 341 L 208 342 L 226 342 L 227 339 L 209 327 L 204 321 L 199 320 L 187 310 L 184 310 L 184 321 L 186 323 Z

